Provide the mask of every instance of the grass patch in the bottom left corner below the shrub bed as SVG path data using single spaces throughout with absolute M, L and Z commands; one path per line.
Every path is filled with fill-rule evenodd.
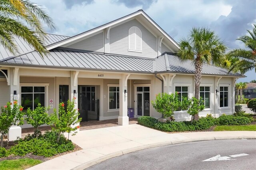
M 15 160 L 2 160 L 0 162 L 0 170 L 24 170 L 36 164 L 42 163 L 41 160 L 36 159 L 15 159 Z

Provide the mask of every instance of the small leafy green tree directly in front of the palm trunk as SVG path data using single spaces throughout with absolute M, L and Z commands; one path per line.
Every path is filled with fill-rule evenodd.
M 193 118 L 195 115 L 198 115 L 200 111 L 204 110 L 204 101 L 200 97 L 200 100 L 196 99 L 195 97 L 192 97 L 191 99 L 186 99 L 186 107 L 188 107 L 188 114 L 190 114 L 191 117 L 191 123 L 193 123 Z

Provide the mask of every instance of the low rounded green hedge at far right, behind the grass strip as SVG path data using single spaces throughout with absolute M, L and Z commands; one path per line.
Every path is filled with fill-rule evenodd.
M 248 125 L 251 123 L 248 117 L 221 115 L 219 118 L 219 125 Z

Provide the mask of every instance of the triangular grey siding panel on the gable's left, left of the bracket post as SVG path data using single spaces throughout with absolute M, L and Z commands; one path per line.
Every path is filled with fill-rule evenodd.
M 67 48 L 103 52 L 103 32 L 67 46 Z

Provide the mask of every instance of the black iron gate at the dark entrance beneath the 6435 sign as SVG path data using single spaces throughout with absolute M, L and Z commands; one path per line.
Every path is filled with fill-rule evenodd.
M 82 122 L 99 120 L 99 100 L 96 101 L 84 101 L 80 103 L 79 117 L 82 118 Z

